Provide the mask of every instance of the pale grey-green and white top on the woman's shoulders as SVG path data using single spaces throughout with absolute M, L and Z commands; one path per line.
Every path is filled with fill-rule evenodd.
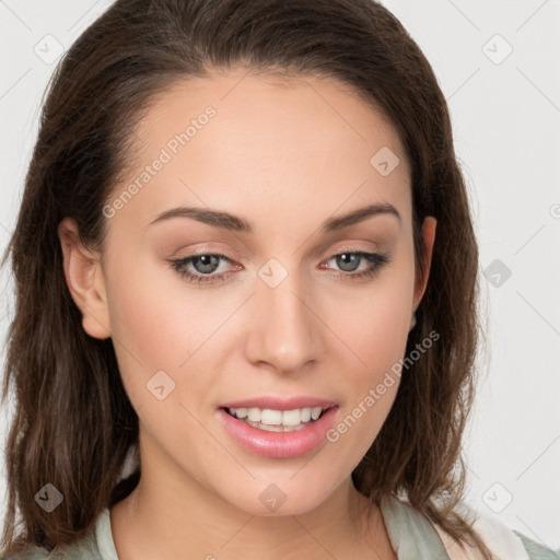
M 382 500 L 381 512 L 398 560 L 479 560 L 474 549 L 462 550 L 443 530 L 408 503 L 394 495 Z M 492 525 L 493 524 L 493 525 Z M 489 528 L 490 527 L 490 528 Z M 475 526 L 499 560 L 559 560 L 560 550 L 552 551 L 498 522 Z M 485 533 L 486 530 L 486 533 Z M 119 560 L 113 540 L 110 516 L 105 508 L 89 536 L 57 553 L 31 546 L 4 560 Z

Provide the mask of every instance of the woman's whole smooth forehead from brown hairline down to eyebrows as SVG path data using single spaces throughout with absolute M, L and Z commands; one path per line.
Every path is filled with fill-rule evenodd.
M 137 180 L 135 203 L 121 212 L 136 208 L 144 224 L 174 203 L 240 215 L 268 205 L 293 220 L 372 201 L 399 206 L 404 218 L 410 210 L 394 126 L 332 79 L 237 70 L 178 81 L 153 98 L 135 133 L 136 166 L 115 196 L 163 162 Z M 380 163 L 394 168 L 382 173 Z

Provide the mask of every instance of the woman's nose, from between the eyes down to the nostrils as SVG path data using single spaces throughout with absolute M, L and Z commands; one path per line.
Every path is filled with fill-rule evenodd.
M 314 307 L 313 298 L 294 273 L 288 273 L 276 287 L 257 278 L 248 319 L 247 359 L 284 373 L 298 372 L 319 360 L 322 322 Z

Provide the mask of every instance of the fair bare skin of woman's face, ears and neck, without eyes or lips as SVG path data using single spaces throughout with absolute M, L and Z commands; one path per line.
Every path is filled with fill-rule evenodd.
M 208 105 L 217 115 L 107 220 L 103 254 L 81 245 L 73 220 L 59 226 L 83 328 L 113 338 L 140 420 L 141 480 L 110 510 L 119 558 L 395 559 L 378 509 L 366 512 L 350 475 L 390 410 L 398 376 L 338 442 L 295 458 L 246 452 L 217 408 L 312 395 L 338 401 L 335 425 L 347 417 L 405 355 L 435 219 L 422 226 L 421 283 L 410 167 L 394 127 L 334 80 L 280 84 L 241 70 L 159 96 L 136 129 L 138 165 L 113 200 Z M 400 159 L 387 176 L 370 164 L 382 147 Z M 393 205 L 401 222 L 377 214 L 319 231 L 328 218 L 375 202 Z M 233 213 L 254 232 L 187 218 L 149 225 L 180 206 Z M 332 258 L 341 248 L 387 253 L 390 261 L 352 279 L 353 269 Z M 212 272 L 226 273 L 222 282 L 190 283 L 170 266 L 196 249 L 232 259 Z M 276 288 L 258 276 L 271 258 L 288 272 Z M 362 259 L 355 269 L 369 266 Z M 205 267 L 188 270 L 203 276 Z M 161 370 L 175 383 L 163 400 L 145 386 Z M 271 483 L 287 497 L 273 512 L 259 500 Z

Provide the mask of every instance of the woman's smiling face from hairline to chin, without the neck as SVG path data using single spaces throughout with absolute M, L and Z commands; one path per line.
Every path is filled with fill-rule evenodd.
M 338 82 L 245 71 L 180 83 L 135 133 L 84 328 L 113 339 L 142 478 L 310 511 L 380 432 L 424 289 L 399 138 Z

